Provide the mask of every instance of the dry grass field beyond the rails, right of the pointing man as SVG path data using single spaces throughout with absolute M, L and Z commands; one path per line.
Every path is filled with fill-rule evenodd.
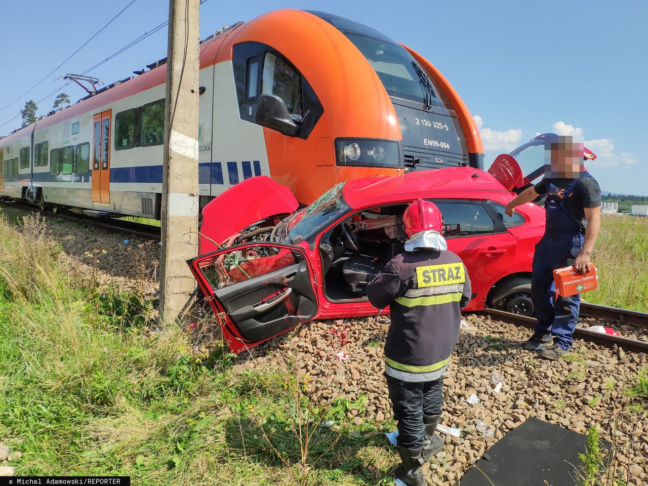
M 603 214 L 592 263 L 599 288 L 584 301 L 648 312 L 648 218 Z

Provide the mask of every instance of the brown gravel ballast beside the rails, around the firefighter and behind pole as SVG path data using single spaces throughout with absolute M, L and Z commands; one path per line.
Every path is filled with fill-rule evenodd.
M 158 242 L 53 218 L 47 218 L 46 232 L 61 245 L 67 264 L 89 277 L 96 274 L 98 283 L 143 288 L 145 294 L 157 296 Z M 443 452 L 424 469 L 428 482 L 456 484 L 492 443 L 527 417 L 537 417 L 581 434 L 596 426 L 603 438 L 616 443 L 619 476 L 630 474 L 629 485 L 647 483 L 648 418 L 645 413 L 631 414 L 631 399 L 623 394 L 647 365 L 646 354 L 577 340 L 570 355 L 550 362 L 520 349 L 529 330 L 472 314 L 464 319 L 467 327 L 461 329 L 445 376 L 441 419 L 445 426 L 461 428 L 463 436 L 444 436 Z M 391 408 L 382 371 L 389 323 L 384 316 L 314 321 L 240 354 L 233 371 L 288 358 L 310 375 L 310 387 L 321 387 L 327 399 L 366 396 L 366 411 L 353 417 L 356 423 L 386 421 Z M 579 326 L 602 324 L 610 326 L 596 319 L 581 319 Z M 623 336 L 648 340 L 648 330 L 618 323 L 612 327 Z M 348 357 L 338 359 L 340 352 Z M 499 393 L 494 373 L 503 378 Z M 466 399 L 473 394 L 479 402 L 469 404 Z M 494 436 L 486 437 L 484 430 Z

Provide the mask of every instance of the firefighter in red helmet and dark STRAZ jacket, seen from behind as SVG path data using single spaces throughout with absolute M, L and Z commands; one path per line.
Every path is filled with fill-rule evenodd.
M 435 434 L 443 375 L 459 339 L 460 310 L 470 301 L 470 279 L 461 259 L 447 250 L 434 203 L 412 203 L 403 222 L 409 238 L 405 252 L 369 283 L 367 297 L 391 312 L 385 376 L 399 430 L 402 463 L 395 475 L 408 486 L 422 486 L 421 466 L 443 448 Z

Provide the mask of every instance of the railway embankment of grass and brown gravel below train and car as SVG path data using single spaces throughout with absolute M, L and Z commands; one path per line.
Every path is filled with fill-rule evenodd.
M 233 356 L 213 318 L 189 334 L 149 325 L 155 244 L 18 219 L 0 221 L 1 467 L 124 474 L 150 485 L 389 477 L 397 465 L 382 435 L 394 429 L 382 378 L 389 318 L 313 322 Z M 494 442 L 537 417 L 580 433 L 596 428 L 614 444 L 609 470 L 645 484 L 646 354 L 577 340 L 566 358 L 546 362 L 518 347 L 527 329 L 464 320 L 441 421 L 458 436 L 445 435 L 426 465 L 430 483 L 456 484 Z M 321 426 L 304 456 L 295 432 L 310 419 Z

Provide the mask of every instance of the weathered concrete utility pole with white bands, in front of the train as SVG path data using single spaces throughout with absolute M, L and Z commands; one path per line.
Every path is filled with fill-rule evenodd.
M 196 281 L 185 260 L 198 240 L 198 71 L 200 0 L 170 0 L 162 182 L 160 314 L 179 321 Z

